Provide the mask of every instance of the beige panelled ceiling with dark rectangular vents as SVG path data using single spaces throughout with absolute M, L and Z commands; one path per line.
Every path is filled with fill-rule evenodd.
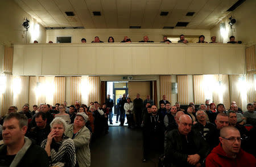
M 44 27 L 210 29 L 228 15 L 237 0 L 15 0 Z M 73 11 L 75 16 L 67 16 Z M 100 11 L 101 16 L 94 16 Z M 168 11 L 167 16 L 160 16 Z M 187 12 L 195 12 L 186 16 Z

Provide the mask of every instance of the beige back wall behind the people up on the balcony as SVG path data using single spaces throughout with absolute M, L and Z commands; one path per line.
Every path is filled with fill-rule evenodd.
M 205 41 L 210 41 L 208 29 L 51 29 L 47 30 L 47 41 L 56 42 L 57 36 L 72 36 L 73 43 L 81 43 L 81 38 L 86 38 L 86 42 L 91 42 L 95 36 L 98 36 L 101 41 L 108 42 L 109 36 L 112 36 L 115 42 L 120 42 L 124 36 L 128 36 L 132 42 L 138 42 L 143 40 L 143 36 L 148 36 L 149 40 L 160 42 L 164 35 L 177 37 L 181 34 L 185 36 L 204 35 Z

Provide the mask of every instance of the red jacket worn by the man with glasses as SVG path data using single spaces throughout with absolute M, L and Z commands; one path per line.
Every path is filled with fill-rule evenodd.
M 221 147 L 221 143 L 214 147 L 212 152 L 207 156 L 206 167 L 223 166 L 223 167 L 236 167 L 246 166 L 255 167 L 255 157 L 242 149 L 238 152 L 237 157 L 229 157 Z

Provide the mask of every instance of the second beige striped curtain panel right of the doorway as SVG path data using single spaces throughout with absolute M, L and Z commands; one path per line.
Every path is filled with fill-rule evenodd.
M 177 75 L 177 100 L 181 105 L 187 105 L 188 99 L 188 76 Z

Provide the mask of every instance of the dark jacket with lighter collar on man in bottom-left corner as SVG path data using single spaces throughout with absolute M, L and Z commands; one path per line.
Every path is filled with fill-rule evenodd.
M 43 148 L 39 147 L 35 143 L 32 143 L 30 139 L 27 137 L 24 138 L 25 143 L 22 149 L 16 154 L 11 162 L 10 167 L 46 167 L 49 166 L 48 164 L 48 156 L 46 151 Z M 5 160 L 7 152 L 7 146 L 1 145 L 0 146 L 0 166 L 3 163 L 2 161 Z

